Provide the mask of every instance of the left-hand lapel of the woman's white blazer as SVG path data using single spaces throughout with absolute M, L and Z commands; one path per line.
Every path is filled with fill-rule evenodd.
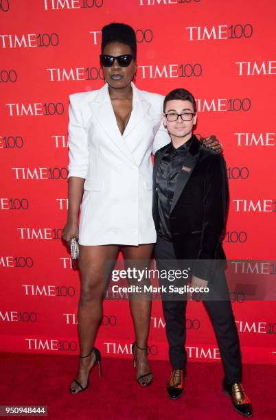
M 103 130 L 106 132 L 106 135 L 108 135 L 117 148 L 119 148 L 119 150 L 121 150 L 121 152 L 136 165 L 135 159 L 128 150 L 124 138 L 119 130 L 108 93 L 107 83 L 99 90 L 94 100 L 88 102 L 88 104 L 100 126 L 102 126 Z

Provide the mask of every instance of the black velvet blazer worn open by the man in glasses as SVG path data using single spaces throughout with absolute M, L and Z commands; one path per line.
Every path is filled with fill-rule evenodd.
M 153 168 L 152 215 L 159 226 L 156 176 L 168 145 L 157 150 Z M 193 135 L 176 181 L 170 210 L 170 229 L 177 259 L 205 260 L 194 266 L 194 275 L 212 281 L 216 259 L 225 259 L 222 235 L 229 205 L 225 159 L 200 145 Z M 206 261 L 213 260 L 213 261 Z M 200 261 L 198 261 L 200 263 Z

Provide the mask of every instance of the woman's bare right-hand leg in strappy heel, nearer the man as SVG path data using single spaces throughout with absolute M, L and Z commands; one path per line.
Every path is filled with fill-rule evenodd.
M 154 244 L 143 244 L 139 246 L 122 246 L 122 253 L 126 261 L 126 266 L 138 268 L 146 268 L 150 266 L 150 260 L 152 258 L 152 250 Z M 133 263 L 132 261 L 134 260 Z M 135 260 L 137 263 L 135 263 Z M 141 266 L 138 260 L 141 261 Z M 148 264 L 144 264 L 144 261 L 148 261 Z M 143 267 L 142 267 L 143 266 Z M 136 283 L 137 285 L 137 283 Z M 149 296 L 145 300 L 130 300 L 130 312 L 133 317 L 133 325 L 135 330 L 135 341 L 137 346 L 146 348 L 148 342 L 148 332 L 150 329 L 150 314 L 151 314 L 151 300 Z M 136 360 L 136 377 L 139 378 L 141 375 L 145 375 L 150 372 L 150 366 L 148 364 L 147 351 L 142 351 L 135 346 L 134 349 L 135 360 Z M 145 386 L 152 380 L 152 374 L 147 375 L 139 382 Z

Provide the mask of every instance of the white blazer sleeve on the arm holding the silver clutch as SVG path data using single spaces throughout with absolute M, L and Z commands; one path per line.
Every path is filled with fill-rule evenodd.
M 79 178 L 87 178 L 89 165 L 89 151 L 87 132 L 82 125 L 81 111 L 76 104 L 75 95 L 69 95 L 69 174 Z

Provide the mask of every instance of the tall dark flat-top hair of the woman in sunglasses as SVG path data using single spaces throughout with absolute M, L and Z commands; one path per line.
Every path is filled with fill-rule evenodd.
M 122 43 L 130 47 L 133 58 L 136 60 L 137 45 L 133 27 L 125 23 L 110 23 L 102 27 L 102 53 L 109 43 Z

